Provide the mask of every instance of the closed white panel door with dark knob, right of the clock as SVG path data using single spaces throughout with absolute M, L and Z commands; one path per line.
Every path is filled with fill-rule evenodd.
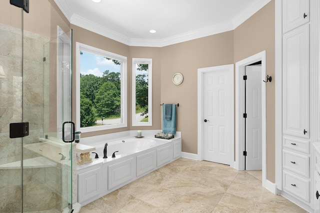
M 234 111 L 233 65 L 206 69 L 202 75 L 203 159 L 230 164 Z

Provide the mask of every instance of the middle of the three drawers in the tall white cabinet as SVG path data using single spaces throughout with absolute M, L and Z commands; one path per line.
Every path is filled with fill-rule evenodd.
M 305 177 L 310 176 L 310 157 L 283 150 L 283 168 Z

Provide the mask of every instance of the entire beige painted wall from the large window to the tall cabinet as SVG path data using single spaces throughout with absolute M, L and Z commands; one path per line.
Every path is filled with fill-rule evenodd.
M 152 58 L 152 126 L 140 129 L 161 128 L 160 103 L 179 103 L 177 108 L 177 131 L 182 132 L 182 151 L 197 153 L 197 68 L 232 64 L 248 56 L 266 50 L 266 73 L 274 76 L 274 0 L 253 14 L 232 31 L 210 35 L 164 47 L 135 47 L 122 44 L 81 27 L 73 29 L 73 52 L 75 42 L 102 48 L 127 56 L 128 70 L 128 127 L 98 132 L 87 132 L 81 137 L 134 130 L 131 126 L 131 60 L 132 57 Z M 75 71 L 73 53 L 73 71 Z M 175 72 L 183 74 L 180 85 L 172 83 Z M 73 75 L 73 80 L 75 75 Z M 160 80 L 158 80 L 160 79 Z M 274 182 L 274 78 L 266 84 L 267 114 L 267 179 Z M 73 81 L 75 82 L 75 81 Z M 75 89 L 73 83 L 73 91 Z M 72 99 L 75 102 L 75 97 Z M 75 112 L 75 104 L 73 104 Z M 74 113 L 75 114 L 75 113 Z M 73 119 L 75 116 L 73 115 Z

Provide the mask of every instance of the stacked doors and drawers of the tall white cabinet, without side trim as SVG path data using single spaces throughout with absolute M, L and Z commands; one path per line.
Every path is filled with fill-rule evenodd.
M 282 1 L 282 190 L 310 203 L 309 0 Z

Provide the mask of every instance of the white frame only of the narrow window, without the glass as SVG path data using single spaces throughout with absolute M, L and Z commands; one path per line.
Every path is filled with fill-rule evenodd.
M 135 121 L 135 64 L 148 64 L 148 122 Z M 152 126 L 152 58 L 132 58 L 132 126 Z

